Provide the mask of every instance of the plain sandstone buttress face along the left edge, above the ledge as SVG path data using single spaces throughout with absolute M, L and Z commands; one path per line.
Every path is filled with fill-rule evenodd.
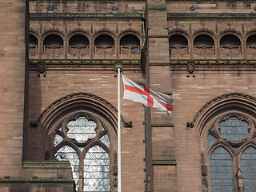
M 20 176 L 25 85 L 25 0 L 0 2 L 0 177 Z

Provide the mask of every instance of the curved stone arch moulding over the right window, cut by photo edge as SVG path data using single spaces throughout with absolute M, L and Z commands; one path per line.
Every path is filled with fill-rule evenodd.
M 194 120 L 192 122 L 187 122 L 187 126 L 198 129 L 199 134 L 202 134 L 202 130 L 206 126 L 207 122 L 218 114 L 222 114 L 230 110 L 236 110 L 251 114 L 256 118 L 255 109 L 256 98 L 250 95 L 240 93 L 223 94 L 218 98 L 214 98 L 210 102 L 207 102 L 206 105 L 198 111 Z

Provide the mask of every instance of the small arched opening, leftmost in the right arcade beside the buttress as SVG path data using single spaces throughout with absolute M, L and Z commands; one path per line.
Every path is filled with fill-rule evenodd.
M 186 38 L 180 34 L 174 34 L 169 38 L 170 58 L 179 58 L 189 54 L 189 46 Z

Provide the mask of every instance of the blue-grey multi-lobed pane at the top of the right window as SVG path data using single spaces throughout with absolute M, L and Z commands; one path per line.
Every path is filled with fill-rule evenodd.
M 221 128 L 222 138 L 226 138 L 230 142 L 239 142 L 249 136 L 248 123 L 239 120 L 237 117 L 230 117 L 220 122 L 219 126 Z

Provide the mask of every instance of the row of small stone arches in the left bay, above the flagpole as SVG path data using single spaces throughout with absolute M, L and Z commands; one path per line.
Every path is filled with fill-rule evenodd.
M 42 59 L 139 59 L 142 38 L 128 31 L 116 37 L 99 32 L 91 37 L 86 32 L 73 32 L 64 37 L 59 32 L 47 32 L 40 37 L 30 32 L 30 58 Z

